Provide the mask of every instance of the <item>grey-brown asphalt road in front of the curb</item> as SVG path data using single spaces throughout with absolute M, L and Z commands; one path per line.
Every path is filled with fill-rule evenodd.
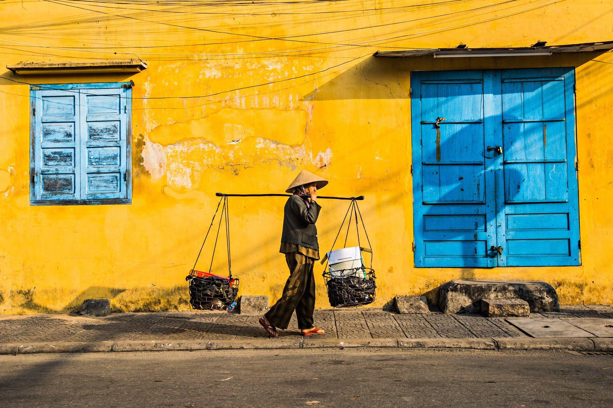
M 613 357 L 232 350 L 0 356 L 1 407 L 611 407 Z

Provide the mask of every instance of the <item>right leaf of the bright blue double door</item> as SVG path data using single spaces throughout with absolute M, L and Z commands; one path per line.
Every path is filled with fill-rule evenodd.
M 504 202 L 497 214 L 503 264 L 579 265 L 574 72 L 502 71 L 501 91 Z

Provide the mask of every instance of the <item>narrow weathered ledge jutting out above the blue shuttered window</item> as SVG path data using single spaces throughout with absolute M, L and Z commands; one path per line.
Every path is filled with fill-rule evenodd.
M 53 75 L 141 72 L 147 69 L 147 64 L 143 61 L 129 59 L 104 62 L 24 62 L 6 67 L 18 75 Z

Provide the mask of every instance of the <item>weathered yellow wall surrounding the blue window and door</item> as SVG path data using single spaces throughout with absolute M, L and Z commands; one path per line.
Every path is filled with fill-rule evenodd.
M 66 311 L 87 297 L 110 297 L 115 309 L 125 311 L 189 309 L 185 276 L 218 202 L 215 192 L 283 192 L 302 168 L 330 180 L 321 194 L 367 197 L 360 208 L 375 253 L 375 306 L 454 278 L 542 279 L 556 287 L 562 303 L 612 304 L 611 53 L 443 61 L 371 56 L 376 50 L 460 42 L 503 47 L 538 39 L 550 45 L 611 40 L 611 5 L 425 3 L 113 9 L 85 2 L 1 2 L 0 39 L 64 47 L 0 41 L 2 67 L 141 58 L 148 69 L 68 77 L 2 70 L 0 312 Z M 137 7 L 158 12 L 132 10 Z M 322 34 L 329 31 L 340 32 Z M 546 66 L 576 66 L 582 266 L 414 268 L 410 72 Z M 29 205 L 29 87 L 10 80 L 134 80 L 131 205 Z M 257 86 L 267 82 L 273 83 Z M 244 89 L 230 91 L 235 88 Z M 210 94 L 215 95 L 178 98 Z M 177 98 L 142 99 L 162 96 Z M 326 249 L 348 203 L 321 204 L 319 241 Z M 278 254 L 283 205 L 283 198 L 230 198 L 233 271 L 242 294 L 281 292 L 287 274 Z M 218 273 L 224 272 L 223 259 L 221 251 Z M 328 307 L 321 272 L 318 264 L 317 306 Z

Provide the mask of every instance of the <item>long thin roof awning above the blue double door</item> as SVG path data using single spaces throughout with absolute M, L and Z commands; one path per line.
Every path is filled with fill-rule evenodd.
M 452 57 L 492 57 L 492 56 L 539 56 L 559 53 L 585 53 L 590 51 L 613 50 L 613 41 L 586 42 L 582 44 L 546 45 L 543 47 L 508 48 L 430 48 L 428 50 L 376 51 L 378 57 L 432 56 L 433 58 Z

